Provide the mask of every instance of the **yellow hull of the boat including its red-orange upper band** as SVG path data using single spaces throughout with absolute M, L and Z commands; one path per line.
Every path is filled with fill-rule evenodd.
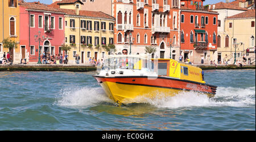
M 100 77 L 94 76 L 110 99 L 118 104 L 136 103 L 144 97 L 174 96 L 180 91 L 197 91 L 214 97 L 217 86 L 170 77 Z

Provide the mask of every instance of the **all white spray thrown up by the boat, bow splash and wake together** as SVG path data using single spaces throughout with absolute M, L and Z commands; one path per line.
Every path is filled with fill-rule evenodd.
M 157 94 L 157 93 L 156 93 Z M 251 107 L 255 106 L 255 87 L 218 87 L 215 97 L 194 91 L 182 91 L 174 97 L 158 93 L 154 98 L 136 98 L 138 103 L 147 103 L 158 108 L 180 107 Z M 62 89 L 55 102 L 59 106 L 88 107 L 102 104 L 114 105 L 101 87 L 70 87 Z

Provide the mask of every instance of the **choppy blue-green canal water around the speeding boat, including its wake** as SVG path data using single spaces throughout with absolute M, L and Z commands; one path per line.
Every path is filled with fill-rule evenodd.
M 254 130 L 255 70 L 205 70 L 195 92 L 117 107 L 95 72 L 0 72 L 0 130 Z

